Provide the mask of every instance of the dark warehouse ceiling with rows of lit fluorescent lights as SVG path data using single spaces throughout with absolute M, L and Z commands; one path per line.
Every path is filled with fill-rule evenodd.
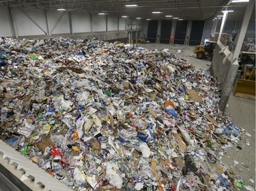
M 255 0 L 251 0 L 255 1 Z M 247 3 L 230 3 L 230 0 L 0 0 L 2 5 L 11 8 L 35 7 L 48 11 L 65 8 L 68 12 L 104 13 L 129 18 L 167 20 L 210 20 L 222 15 L 222 10 L 234 10 L 227 20 L 242 20 Z M 126 7 L 136 4 L 137 7 Z M 161 12 L 152 14 L 152 12 Z M 165 16 L 171 15 L 171 18 Z M 251 20 L 255 20 L 255 7 Z

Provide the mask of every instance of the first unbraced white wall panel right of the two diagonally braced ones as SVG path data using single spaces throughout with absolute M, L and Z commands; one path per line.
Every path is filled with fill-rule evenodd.
M 72 14 L 73 33 L 91 32 L 91 20 L 89 14 Z

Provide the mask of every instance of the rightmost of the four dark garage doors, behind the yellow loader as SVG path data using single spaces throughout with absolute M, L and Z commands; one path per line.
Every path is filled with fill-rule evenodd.
M 189 45 L 201 44 L 204 22 L 204 20 L 193 20 L 190 32 Z

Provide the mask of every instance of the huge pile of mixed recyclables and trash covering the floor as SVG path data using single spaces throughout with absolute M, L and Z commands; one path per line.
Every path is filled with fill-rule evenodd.
M 218 83 L 166 50 L 2 37 L 0 66 L 0 138 L 74 190 L 244 186 Z

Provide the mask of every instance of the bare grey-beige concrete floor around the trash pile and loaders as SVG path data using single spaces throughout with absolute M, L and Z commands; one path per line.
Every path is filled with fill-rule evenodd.
M 211 64 L 210 60 L 197 58 L 196 54 L 193 53 L 195 46 L 170 44 L 137 44 L 137 46 L 150 50 L 168 48 L 169 52 L 188 60 L 191 65 L 200 69 L 207 69 Z M 181 50 L 181 53 L 177 53 L 177 50 Z M 242 177 L 246 186 L 255 187 L 255 100 L 234 97 L 231 94 L 225 114 L 232 119 L 233 124 L 239 128 L 244 128 L 251 137 L 246 136 L 238 143 L 242 150 L 238 150 L 237 147 L 230 147 L 224 156 L 220 157 L 224 164 Z M 246 141 L 250 145 L 247 145 Z M 235 164 L 235 161 L 239 163 Z

